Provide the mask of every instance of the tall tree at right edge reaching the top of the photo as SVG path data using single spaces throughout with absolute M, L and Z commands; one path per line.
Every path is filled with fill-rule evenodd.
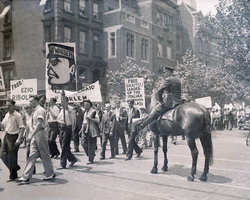
M 250 99 L 250 1 L 219 0 L 216 16 L 206 26 L 220 37 L 221 70 L 227 78 L 226 95 L 231 101 Z M 224 78 L 224 77 L 223 77 Z

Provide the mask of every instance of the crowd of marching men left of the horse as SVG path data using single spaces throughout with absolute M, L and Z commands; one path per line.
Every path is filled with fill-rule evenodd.
M 137 132 L 134 125 L 148 117 L 147 110 L 135 108 L 133 100 L 128 100 L 128 108 L 121 106 L 119 100 L 116 100 L 114 105 L 105 104 L 104 108 L 101 104 L 93 104 L 88 99 L 69 105 L 68 98 L 64 97 L 61 108 L 56 103 L 57 100 L 51 98 L 49 105 L 45 106 L 45 102 L 38 96 L 31 96 L 29 105 L 24 108 L 24 114 L 20 114 L 15 109 L 15 101 L 7 101 L 8 112 L 1 123 L 1 129 L 5 132 L 1 145 L 1 159 L 9 169 L 8 181 L 29 183 L 36 173 L 37 158 L 43 163 L 44 180 L 53 180 L 56 174 L 52 159 L 60 158 L 58 170 L 67 166 L 72 167 L 79 161 L 74 153 L 79 152 L 80 145 L 88 157 L 87 164 L 92 164 L 98 149 L 98 138 L 101 144 L 100 160 L 106 158 L 108 142 L 110 159 L 119 154 L 119 140 L 125 160 L 132 158 L 133 151 L 136 152 L 136 157 L 140 157 L 143 149 L 148 146 L 148 127 Z M 56 142 L 58 137 L 60 147 Z M 18 149 L 21 143 L 27 148 L 27 160 L 22 175 L 18 178 Z

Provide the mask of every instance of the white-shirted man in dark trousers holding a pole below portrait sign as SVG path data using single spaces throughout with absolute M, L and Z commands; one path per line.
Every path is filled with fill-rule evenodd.
M 67 160 L 70 162 L 70 166 L 72 167 L 78 160 L 71 153 L 70 150 L 70 141 L 72 137 L 72 125 L 75 123 L 75 112 L 73 108 L 68 105 L 68 97 L 62 99 L 62 106 L 65 109 L 61 109 L 57 121 L 59 122 L 60 127 L 60 145 L 62 148 L 61 159 L 60 159 L 60 168 L 65 169 L 67 166 Z M 65 113 L 64 113 L 65 112 Z

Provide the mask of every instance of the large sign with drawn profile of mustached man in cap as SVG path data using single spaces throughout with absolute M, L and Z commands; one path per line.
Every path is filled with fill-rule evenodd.
M 46 96 L 62 89 L 75 90 L 75 43 L 46 43 Z

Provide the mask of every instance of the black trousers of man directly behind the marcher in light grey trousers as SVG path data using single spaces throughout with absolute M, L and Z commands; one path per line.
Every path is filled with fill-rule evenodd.
M 60 152 L 57 148 L 56 138 L 57 135 L 60 133 L 58 122 L 51 122 L 49 123 L 50 131 L 49 131 L 49 150 L 50 155 L 52 157 L 59 155 Z

